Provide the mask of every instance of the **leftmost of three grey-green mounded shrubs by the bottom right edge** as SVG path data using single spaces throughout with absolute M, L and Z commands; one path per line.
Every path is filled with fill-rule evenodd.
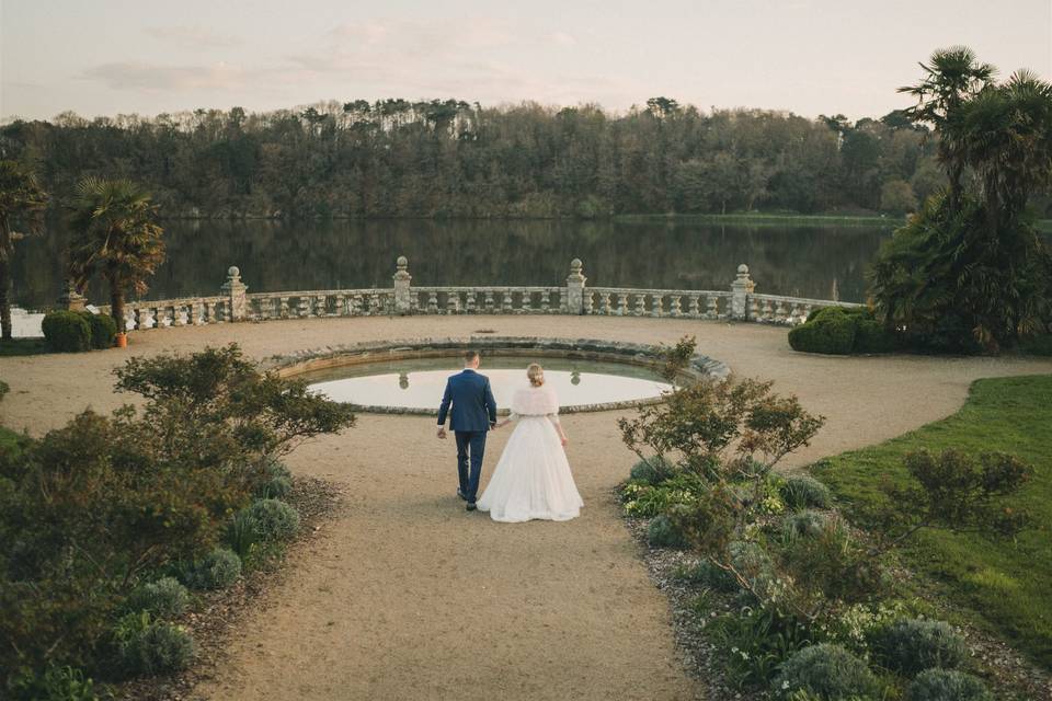
M 782 663 L 773 687 L 782 694 L 802 690 L 832 701 L 874 693 L 877 680 L 866 663 L 847 650 L 822 643 L 804 647 Z

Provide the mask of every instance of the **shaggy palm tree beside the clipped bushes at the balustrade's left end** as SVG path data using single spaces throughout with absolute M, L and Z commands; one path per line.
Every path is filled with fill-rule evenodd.
M 164 230 L 150 195 L 129 180 L 85 177 L 70 206 L 70 273 L 83 289 L 95 273 L 110 286 L 110 313 L 125 332 L 124 295 L 142 295 L 164 260 Z

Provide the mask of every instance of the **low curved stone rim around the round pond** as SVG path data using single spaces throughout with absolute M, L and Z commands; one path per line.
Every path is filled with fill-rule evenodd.
M 276 371 L 281 377 L 296 377 L 316 370 L 329 370 L 340 367 L 386 363 L 416 358 L 442 358 L 458 355 L 467 348 L 474 348 L 490 356 L 558 357 L 571 360 L 602 360 L 655 367 L 661 363 L 656 346 L 617 341 L 597 341 L 591 338 L 544 338 L 537 336 L 465 336 L 443 338 L 412 338 L 404 341 L 375 341 L 367 343 L 341 344 L 297 350 L 286 355 L 275 355 L 264 361 L 264 368 Z M 684 369 L 684 379 L 701 378 L 724 379 L 730 368 L 714 358 L 695 354 Z M 661 402 L 660 398 L 606 402 L 603 404 L 578 404 L 567 406 L 567 414 L 579 412 L 601 412 L 631 409 Z M 375 414 L 411 414 L 433 416 L 434 409 L 404 406 L 352 406 L 359 412 Z M 506 414 L 507 410 L 502 410 Z

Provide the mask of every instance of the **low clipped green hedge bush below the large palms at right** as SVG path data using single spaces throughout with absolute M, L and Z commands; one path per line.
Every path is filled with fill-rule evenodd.
M 808 321 L 789 331 L 789 345 L 802 353 L 850 355 L 888 353 L 894 337 L 865 307 L 825 307 L 808 314 Z

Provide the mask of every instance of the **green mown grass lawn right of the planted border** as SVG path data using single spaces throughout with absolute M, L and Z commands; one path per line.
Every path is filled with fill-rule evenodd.
M 823 460 L 812 472 L 850 513 L 853 504 L 873 499 L 883 480 L 905 480 L 904 453 L 950 447 L 1010 452 L 1032 466 L 1034 476 L 1015 503 L 1033 525 L 1015 542 L 922 531 L 904 551 L 906 561 L 967 618 L 1052 668 L 1052 376 L 979 380 L 957 414 Z

